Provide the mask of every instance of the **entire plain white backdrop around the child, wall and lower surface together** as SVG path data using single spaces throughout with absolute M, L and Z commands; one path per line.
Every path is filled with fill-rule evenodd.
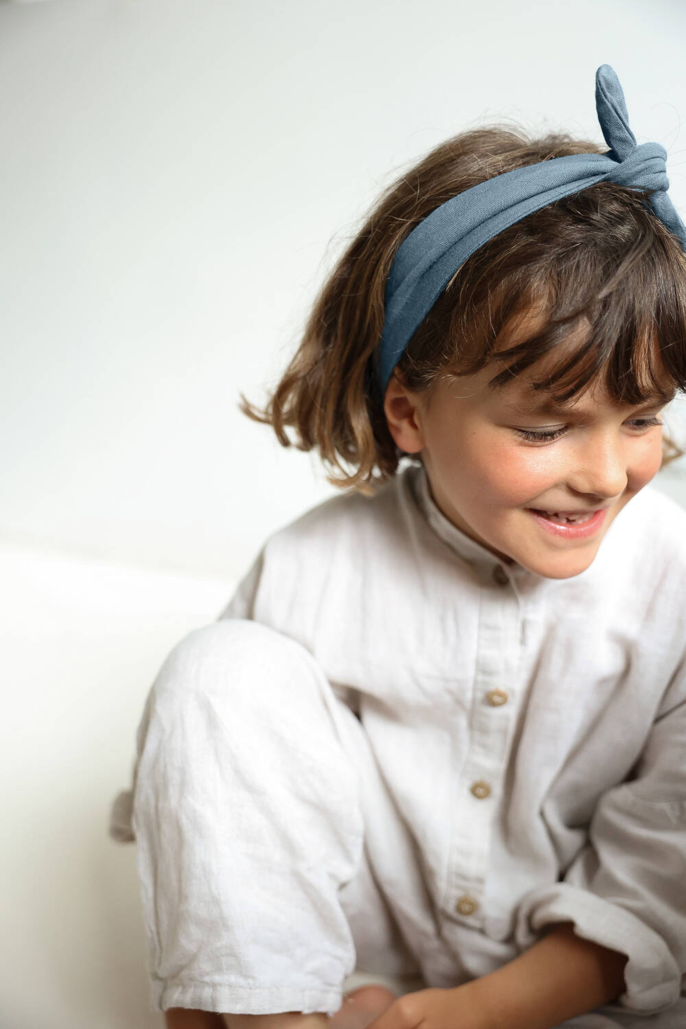
M 3 1029 L 161 1024 L 109 801 L 167 652 L 335 493 L 240 391 L 436 143 L 602 143 L 603 63 L 684 217 L 685 38 L 679 0 L 0 3 Z

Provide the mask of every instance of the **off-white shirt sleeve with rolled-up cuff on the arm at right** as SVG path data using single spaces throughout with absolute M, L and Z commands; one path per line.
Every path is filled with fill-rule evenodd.
M 618 741 L 621 746 L 621 741 Z M 677 1003 L 686 973 L 686 667 L 666 690 L 634 778 L 607 790 L 588 843 L 563 881 L 527 894 L 522 948 L 552 922 L 628 956 L 616 1003 L 652 1015 Z

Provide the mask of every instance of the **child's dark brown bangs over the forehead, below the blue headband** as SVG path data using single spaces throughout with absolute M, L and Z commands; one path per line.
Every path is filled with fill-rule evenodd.
M 686 290 L 675 243 L 644 235 L 619 261 L 580 252 L 551 277 L 532 280 L 484 355 L 484 363 L 505 365 L 490 386 L 529 371 L 532 388 L 558 403 L 602 385 L 631 405 L 686 391 Z

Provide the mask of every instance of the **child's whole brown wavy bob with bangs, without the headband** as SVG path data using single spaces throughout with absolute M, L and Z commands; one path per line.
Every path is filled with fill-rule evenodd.
M 436 207 L 479 182 L 553 157 L 606 152 L 567 134 L 532 139 L 502 125 L 436 146 L 366 216 L 320 289 L 266 405 L 241 393 L 240 410 L 270 425 L 282 446 L 316 448 L 334 472 L 326 476 L 332 486 L 370 495 L 401 458 L 420 461 L 391 436 L 377 380 L 386 280 L 398 247 Z M 506 361 L 490 383 L 498 388 L 576 330 L 572 356 L 534 384 L 558 402 L 598 381 L 617 402 L 637 405 L 686 390 L 686 254 L 644 203 L 650 194 L 600 182 L 483 244 L 409 341 L 396 366 L 406 386 L 430 399 L 441 378 Z M 503 349 L 511 319 L 542 300 L 547 323 Z M 295 430 L 294 441 L 286 428 Z M 663 464 L 681 456 L 665 435 Z

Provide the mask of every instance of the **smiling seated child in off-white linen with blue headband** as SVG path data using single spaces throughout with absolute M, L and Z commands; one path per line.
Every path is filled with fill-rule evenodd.
M 686 1026 L 686 228 L 595 79 L 609 151 L 436 147 L 244 400 L 350 489 L 148 695 L 111 831 L 168 1026 Z

